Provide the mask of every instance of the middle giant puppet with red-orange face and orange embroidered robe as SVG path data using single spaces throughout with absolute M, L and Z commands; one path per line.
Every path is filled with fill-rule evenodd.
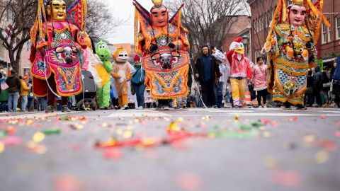
M 188 30 L 181 23 L 183 4 L 169 19 L 162 0 L 152 2 L 149 12 L 134 1 L 135 51 L 143 54 L 145 85 L 150 88 L 150 96 L 159 100 L 160 108 L 168 108 L 170 99 L 182 98 L 189 92 Z

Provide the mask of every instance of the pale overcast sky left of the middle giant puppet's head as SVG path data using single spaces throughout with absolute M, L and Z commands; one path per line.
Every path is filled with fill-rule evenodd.
M 104 1 L 105 2 L 105 1 Z M 152 7 L 151 0 L 140 0 L 138 1 L 144 8 L 150 10 Z M 108 41 L 117 43 L 133 43 L 133 20 L 135 18 L 135 6 L 132 4 L 132 0 L 106 0 L 108 6 L 111 7 L 112 15 L 115 18 L 123 18 L 128 21 L 117 28 L 116 33 L 108 37 Z

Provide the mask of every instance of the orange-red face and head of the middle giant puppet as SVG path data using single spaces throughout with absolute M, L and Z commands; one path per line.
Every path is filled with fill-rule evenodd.
M 154 27 L 164 27 L 169 21 L 169 11 L 162 3 L 162 0 L 152 0 L 154 6 L 151 8 L 151 21 Z

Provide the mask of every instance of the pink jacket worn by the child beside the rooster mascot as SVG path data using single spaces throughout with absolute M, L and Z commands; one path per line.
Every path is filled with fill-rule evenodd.
M 254 82 L 254 91 L 261 91 L 267 88 L 267 65 L 253 64 L 251 74 Z

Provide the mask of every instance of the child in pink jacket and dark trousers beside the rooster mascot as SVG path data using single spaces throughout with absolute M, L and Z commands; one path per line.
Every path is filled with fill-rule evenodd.
M 251 76 L 254 83 L 254 91 L 257 93 L 257 103 L 259 107 L 266 108 L 267 99 L 267 65 L 263 64 L 263 57 L 256 58 L 256 64 L 251 66 Z M 261 98 L 263 99 L 263 105 L 261 105 Z

